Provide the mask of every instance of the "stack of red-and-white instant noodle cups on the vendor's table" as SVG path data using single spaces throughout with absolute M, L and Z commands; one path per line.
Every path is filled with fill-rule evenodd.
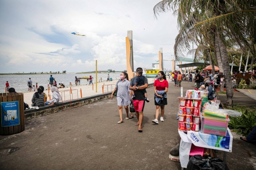
M 180 99 L 178 113 L 180 131 L 200 130 L 200 109 L 201 100 Z

